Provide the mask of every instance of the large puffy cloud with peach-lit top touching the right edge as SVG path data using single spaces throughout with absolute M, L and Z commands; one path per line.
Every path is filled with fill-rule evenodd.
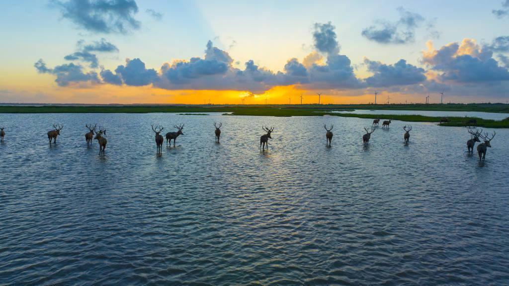
M 440 72 L 442 81 L 489 82 L 509 80 L 507 68 L 493 59 L 490 48 L 482 48 L 475 40 L 464 39 L 461 44 L 450 43 L 436 50 L 429 44 L 422 55 L 422 63 Z

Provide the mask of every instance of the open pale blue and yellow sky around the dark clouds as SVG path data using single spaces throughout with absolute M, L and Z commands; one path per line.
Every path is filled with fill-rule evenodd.
M 206 56 L 204 50 L 209 40 L 214 47 L 232 58 L 232 62 L 227 63 L 228 71 L 223 69 L 217 71 L 218 75 L 226 80 L 224 85 L 228 90 L 260 94 L 280 85 L 292 85 L 299 90 L 325 89 L 331 96 L 358 96 L 360 99 L 362 95 L 370 94 L 373 89 L 383 87 L 383 92 L 395 93 L 402 98 L 405 94 L 409 98 L 415 98 L 430 91 L 434 93 L 436 89 L 450 90 L 448 93 L 451 97 L 464 102 L 485 100 L 505 102 L 504 99 L 507 97 L 506 90 L 509 85 L 503 70 L 507 67 L 504 67 L 503 61 L 500 60 L 500 56 L 503 57 L 507 50 L 498 49 L 493 52 L 492 59 L 501 68 L 490 69 L 496 80 L 476 78 L 473 75 L 462 77 L 462 71 L 451 70 L 453 67 L 450 66 L 445 68 L 443 63 L 437 62 L 438 58 L 423 61 L 423 51 L 428 50 L 428 41 L 433 42 L 436 50 L 450 43 L 458 43 L 461 50 L 462 41 L 469 39 L 475 41 L 479 50 L 486 51 L 487 47 L 493 46 L 493 41 L 497 37 L 509 36 L 507 32 L 509 16 L 504 16 L 503 13 L 502 16 L 497 16 L 493 13 L 493 10 L 503 12 L 504 9 L 509 9 L 504 7 L 505 1 L 81 1 L 115 5 L 124 1 L 134 4 L 137 12 L 130 13 L 129 17 L 134 19 L 138 26 L 128 27 L 127 31 L 113 31 L 116 29 L 115 25 L 111 31 L 91 30 L 77 23 L 72 17 L 65 16 L 62 7 L 72 5 L 75 1 L 3 1 L 4 9 L 0 12 L 2 13 L 0 30 L 4 42 L 0 46 L 3 63 L 0 68 L 0 75 L 3 78 L 0 79 L 0 90 L 4 91 L 4 95 L 0 93 L 0 101 L 12 100 L 13 94 L 16 94 L 15 98 L 24 100 L 26 96 L 26 100 L 30 100 L 34 98 L 32 94 L 36 92 L 43 93 L 45 95 L 43 98 L 48 101 L 69 102 L 77 99 L 81 101 L 77 95 L 83 90 L 90 94 L 94 93 L 94 90 L 100 92 L 106 89 L 105 84 L 108 83 L 99 75 L 101 70 L 110 70 L 116 75 L 115 69 L 119 65 L 127 67 L 126 59 L 139 59 L 147 70 L 154 69 L 158 77 L 163 75 L 161 70 L 163 64 L 168 63 L 171 71 L 182 76 L 178 67 L 172 64 L 173 61 L 189 62 L 193 57 L 204 58 Z M 416 22 L 408 22 L 409 18 L 405 18 L 404 15 L 411 15 L 411 20 Z M 285 65 L 290 59 L 296 58 L 302 63 L 306 55 L 317 52 L 314 37 L 314 32 L 317 31 L 316 24 L 328 22 L 334 27 L 331 31 L 335 35 L 338 53 L 350 60 L 354 76 L 363 84 L 356 85 L 351 82 L 345 85 L 336 84 L 336 81 L 344 80 L 342 78 L 336 80 L 333 76 L 337 74 L 323 75 L 320 80 L 314 81 L 314 78 L 319 77 L 319 71 L 313 72 L 310 67 L 306 67 L 308 75 L 305 79 L 288 76 L 290 71 L 285 70 Z M 380 36 L 380 31 L 387 27 L 395 29 L 398 34 L 395 34 L 392 40 L 377 41 L 376 39 L 380 37 L 375 36 Z M 375 36 L 370 39 L 370 35 Z M 96 69 L 97 80 L 80 77 L 81 81 L 75 82 L 71 78 L 69 84 L 65 86 L 54 81 L 55 77 L 58 78 L 62 74 L 59 75 L 53 67 L 70 64 L 64 60 L 64 56 L 80 51 L 78 41 L 86 44 L 100 39 L 114 44 L 118 52 L 96 53 L 99 62 Z M 318 50 L 318 54 L 321 54 L 322 62 L 329 59 L 327 51 Z M 34 63 L 39 59 L 49 67 L 50 72 L 41 72 L 34 68 Z M 370 71 L 366 59 L 380 62 L 389 68 L 403 59 L 406 65 L 411 65 L 404 66 L 405 72 L 409 71 L 408 68 L 411 69 L 410 73 L 413 71 L 419 73 L 413 68 L 423 69 L 420 73 L 427 73 L 427 83 L 423 80 L 410 79 L 407 82 L 409 84 L 406 84 L 401 80 L 388 78 L 390 76 L 385 73 L 383 66 L 379 68 L 380 65 L 377 67 L 371 65 Z M 229 72 L 235 73 L 240 70 L 245 73 L 245 63 L 249 60 L 252 60 L 260 70 L 265 68 L 272 72 L 264 74 L 263 87 L 259 84 L 239 84 L 238 78 L 231 79 L 236 82 L 235 84 L 228 81 Z M 82 73 L 93 71 L 86 62 L 79 59 L 72 63 L 82 67 L 80 69 Z M 204 61 L 204 64 L 210 62 Z M 485 64 L 490 63 L 480 63 L 484 66 Z M 475 65 L 465 64 L 465 66 Z M 454 69 L 457 67 L 455 64 Z M 188 66 L 182 65 L 182 68 Z M 277 78 L 278 71 L 285 73 L 284 78 Z M 365 78 L 373 76 L 374 71 L 380 73 L 379 80 L 395 83 L 377 81 L 378 86 L 371 86 L 367 81 L 364 82 Z M 430 77 L 429 71 L 438 73 L 439 77 Z M 453 73 L 454 76 L 451 75 Z M 495 73 L 501 74 L 498 76 Z M 118 75 L 120 84 L 117 84 L 117 93 L 122 91 L 122 87 L 126 89 L 129 87 L 123 78 L 127 75 L 120 73 Z M 200 73 L 197 81 L 186 80 L 184 85 L 176 85 L 175 78 L 169 78 L 168 74 L 171 82 L 156 83 L 149 80 L 144 86 L 174 93 L 180 88 L 186 91 L 206 90 L 209 89 L 208 82 L 217 81 L 217 78 L 213 78 L 215 74 L 208 74 L 208 77 L 202 75 L 203 73 Z M 468 78 L 468 82 L 465 78 Z M 435 88 L 428 84 L 430 79 L 434 79 Z M 329 84 L 332 81 L 334 84 Z M 412 88 L 412 85 L 419 83 L 427 84 L 426 89 Z M 75 97 L 70 99 L 63 97 L 64 88 Z M 114 93 L 111 89 L 109 92 Z M 210 89 L 220 88 L 211 85 Z M 52 99 L 53 93 L 60 95 Z M 115 100 L 117 99 L 111 99 Z

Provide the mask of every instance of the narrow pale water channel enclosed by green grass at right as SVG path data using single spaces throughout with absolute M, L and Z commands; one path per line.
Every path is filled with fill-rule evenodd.
M 338 113 L 380 114 L 380 115 L 421 115 L 434 117 L 478 117 L 482 119 L 502 120 L 509 117 L 509 113 L 476 112 L 476 111 L 428 111 L 428 110 L 367 110 L 332 111 Z

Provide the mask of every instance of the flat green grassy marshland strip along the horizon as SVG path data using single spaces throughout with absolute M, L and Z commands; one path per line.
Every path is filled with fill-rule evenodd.
M 420 115 L 372 115 L 355 113 L 337 113 L 331 111 L 377 109 L 377 110 L 433 110 L 433 111 L 483 111 L 509 112 L 507 104 L 360 104 L 360 105 L 95 105 L 66 106 L 42 105 L 0 106 L 0 113 L 150 113 L 171 112 L 180 115 L 207 115 L 202 112 L 222 112 L 227 116 L 338 116 L 365 119 L 392 119 L 406 122 L 440 122 L 441 117 Z M 466 117 L 447 117 L 449 122 L 442 126 L 466 126 Z M 509 128 L 509 118 L 495 121 L 475 118 L 477 126 L 486 128 Z

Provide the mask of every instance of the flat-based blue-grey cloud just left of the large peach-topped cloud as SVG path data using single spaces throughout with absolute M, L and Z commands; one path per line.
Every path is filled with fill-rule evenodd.
M 426 81 L 425 70 L 400 60 L 393 65 L 364 59 L 367 70 L 374 73 L 365 79 L 370 87 L 391 87 L 393 85 L 410 85 Z

